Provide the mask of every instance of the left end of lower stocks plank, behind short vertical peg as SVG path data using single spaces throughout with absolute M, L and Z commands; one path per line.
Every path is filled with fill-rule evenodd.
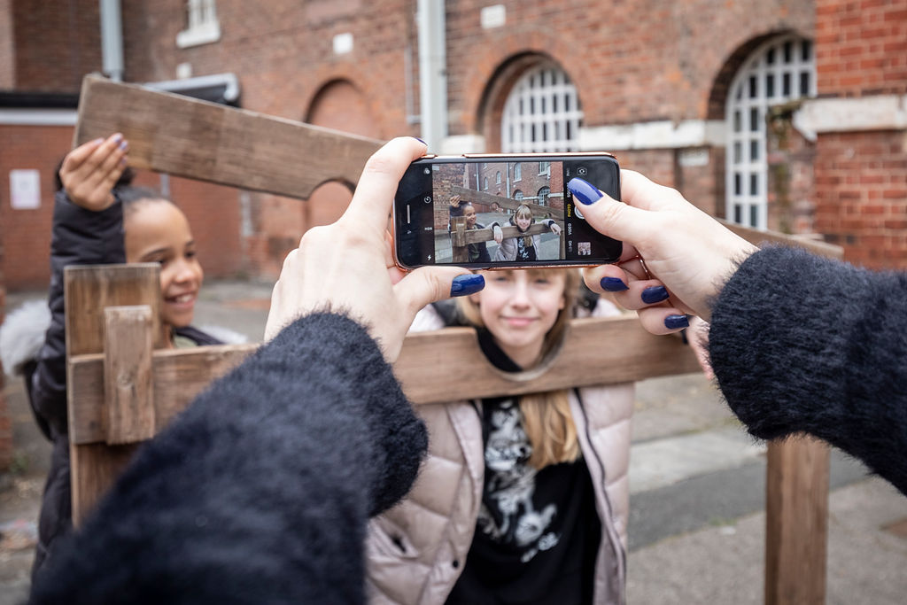
M 160 431 L 211 381 L 239 365 L 258 345 L 200 346 L 154 351 L 151 392 L 155 426 Z M 106 441 L 103 412 L 104 356 L 76 356 L 70 361 L 73 410 L 69 434 L 73 444 Z

